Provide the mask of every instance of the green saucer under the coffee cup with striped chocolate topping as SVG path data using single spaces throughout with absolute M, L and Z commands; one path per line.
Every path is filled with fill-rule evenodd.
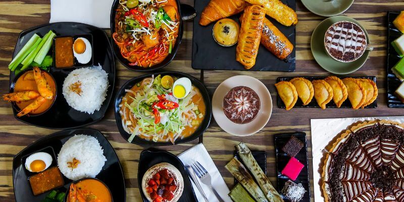
M 354 62 L 343 63 L 332 59 L 325 49 L 324 36 L 327 29 L 332 24 L 339 21 L 349 21 L 359 25 L 364 30 L 367 42 L 370 45 L 368 32 L 358 21 L 346 16 L 334 16 L 323 20 L 323 22 L 314 29 L 311 40 L 311 49 L 314 59 L 323 69 L 334 74 L 349 74 L 357 71 L 363 66 L 363 64 L 365 64 L 369 56 L 369 51 L 365 51 L 365 53 Z

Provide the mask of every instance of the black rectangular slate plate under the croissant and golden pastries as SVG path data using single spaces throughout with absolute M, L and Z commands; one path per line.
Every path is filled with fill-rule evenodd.
M 281 0 L 284 4 L 296 10 L 296 0 Z M 237 44 L 230 47 L 223 47 L 216 43 L 212 35 L 212 29 L 215 22 L 208 26 L 199 25 L 200 14 L 208 5 L 210 0 L 195 0 L 194 8 L 196 17 L 193 20 L 193 35 L 192 35 L 192 68 L 207 69 L 207 70 L 246 70 L 236 61 Z M 238 21 L 240 14 L 229 17 Z M 268 17 L 268 16 L 266 16 Z M 290 54 L 288 63 L 279 60 L 263 45 L 260 45 L 256 65 L 249 71 L 283 71 L 293 72 L 296 65 L 296 26 L 284 26 L 276 20 L 268 19 L 290 40 L 293 44 L 293 52 Z

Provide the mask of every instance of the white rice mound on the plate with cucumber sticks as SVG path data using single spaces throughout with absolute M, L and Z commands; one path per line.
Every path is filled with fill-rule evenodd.
M 81 83 L 80 95 L 69 87 L 76 82 Z M 73 109 L 92 114 L 98 111 L 105 101 L 108 85 L 108 74 L 101 66 L 78 68 L 65 78 L 63 95 Z

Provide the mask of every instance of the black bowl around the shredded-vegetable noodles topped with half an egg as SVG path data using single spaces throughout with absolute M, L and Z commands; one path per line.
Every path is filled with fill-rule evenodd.
M 181 144 L 185 142 L 192 141 L 196 138 L 198 138 L 200 135 L 202 135 L 205 130 L 208 128 L 209 123 L 211 122 L 212 118 L 212 104 L 211 104 L 211 99 L 208 94 L 208 90 L 206 89 L 205 85 L 201 83 L 199 80 L 197 80 L 195 77 L 182 73 L 182 72 L 174 72 L 174 71 L 165 71 L 165 72 L 157 72 L 153 73 L 155 76 L 161 74 L 162 76 L 164 75 L 171 75 L 175 77 L 187 77 L 191 80 L 192 85 L 197 87 L 204 97 L 205 105 L 206 105 L 206 112 L 205 112 L 205 118 L 204 121 L 200 124 L 200 126 L 196 129 L 196 131 L 183 139 L 177 138 L 175 141 L 175 144 Z M 115 120 L 119 129 L 119 132 L 121 133 L 122 137 L 126 140 L 130 137 L 130 134 L 127 133 L 123 127 L 122 127 L 122 119 L 121 115 L 119 114 L 119 105 L 121 104 L 122 97 L 126 94 L 125 89 L 130 89 L 132 88 L 137 82 L 143 80 L 144 78 L 151 77 L 153 74 L 146 74 L 143 76 L 135 77 L 129 81 L 127 81 L 125 84 L 122 85 L 121 89 L 117 92 L 115 96 Z M 136 136 L 131 143 L 140 145 L 140 146 L 166 146 L 166 145 L 173 145 L 171 142 L 154 142 L 154 141 L 147 141 L 145 139 L 142 139 L 138 136 Z

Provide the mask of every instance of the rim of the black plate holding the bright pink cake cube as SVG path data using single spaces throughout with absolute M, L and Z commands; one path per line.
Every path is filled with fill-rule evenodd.
M 282 196 L 284 196 L 281 192 L 280 192 L 280 190 L 282 189 L 282 187 L 280 187 L 280 180 L 279 180 L 279 178 L 278 178 L 278 173 L 280 173 L 279 171 L 280 171 L 280 169 L 278 168 L 278 152 L 277 152 L 277 149 L 276 149 L 276 147 L 277 147 L 277 139 L 278 138 L 285 138 L 285 136 L 292 136 L 292 135 L 295 135 L 295 136 L 303 136 L 303 137 L 305 137 L 305 144 L 306 144 L 306 153 L 305 153 L 305 155 L 306 155 L 306 159 L 305 159 L 305 161 L 306 161 L 306 165 L 307 166 L 305 166 L 304 168 L 306 168 L 307 169 L 307 176 L 305 175 L 305 178 L 307 178 L 307 182 L 308 182 L 308 189 L 309 190 L 306 190 L 307 192 L 308 192 L 308 194 L 309 194 L 309 198 L 311 198 L 311 195 L 312 195 L 312 193 L 311 193 L 311 189 L 310 189 L 310 165 L 309 165 L 309 155 L 308 155 L 308 149 L 307 149 L 307 134 L 305 133 L 305 132 L 290 132 L 290 133 L 277 133 L 277 134 L 275 134 L 274 135 L 274 145 L 275 145 L 275 170 L 276 170 L 276 184 L 277 184 L 277 190 L 279 191 L 279 193 L 282 195 Z M 289 137 L 290 138 L 290 137 Z M 291 180 L 291 181 L 293 181 L 293 180 Z M 285 196 L 286 197 L 286 196 Z

